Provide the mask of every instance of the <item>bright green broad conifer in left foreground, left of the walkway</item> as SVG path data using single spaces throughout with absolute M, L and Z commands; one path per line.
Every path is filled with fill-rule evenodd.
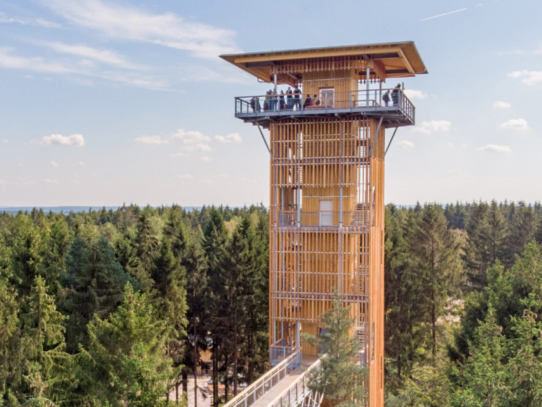
M 166 355 L 167 327 L 145 294 L 130 283 L 124 301 L 108 319 L 88 324 L 89 344 L 81 347 L 78 376 L 91 405 L 154 407 L 165 404 L 177 370 Z

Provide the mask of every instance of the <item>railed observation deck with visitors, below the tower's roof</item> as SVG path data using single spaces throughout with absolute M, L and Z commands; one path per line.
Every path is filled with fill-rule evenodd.
M 386 104 L 382 99 L 386 91 L 388 89 L 323 93 L 311 98 L 312 105 L 305 103 L 306 94 L 291 99 L 286 94 L 236 97 L 235 117 L 265 129 L 269 128 L 271 122 L 283 118 L 347 117 L 358 114 L 382 117 L 385 128 L 414 125 L 416 108 L 409 98 L 402 90 L 392 94 L 393 89 L 389 89 L 390 100 Z

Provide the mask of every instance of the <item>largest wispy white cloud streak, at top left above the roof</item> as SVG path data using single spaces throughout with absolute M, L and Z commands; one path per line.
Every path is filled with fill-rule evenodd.
M 187 22 L 172 12 L 152 14 L 100 0 L 47 0 L 43 4 L 77 26 L 98 30 L 116 40 L 160 44 L 189 51 L 200 58 L 216 58 L 218 54 L 239 51 L 235 31 Z

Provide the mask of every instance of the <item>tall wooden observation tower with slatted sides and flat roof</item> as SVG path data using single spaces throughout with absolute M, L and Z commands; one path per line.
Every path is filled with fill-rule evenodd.
M 269 129 L 271 363 L 292 348 L 317 354 L 299 333 L 321 332 L 337 289 L 369 367 L 368 404 L 383 406 L 385 129 L 414 125 L 395 78 L 424 63 L 410 41 L 221 57 L 279 93 L 235 98 L 236 117 Z

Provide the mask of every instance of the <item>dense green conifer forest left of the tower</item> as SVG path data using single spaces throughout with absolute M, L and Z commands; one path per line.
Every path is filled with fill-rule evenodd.
M 0 405 L 177 405 L 209 367 L 224 402 L 268 368 L 268 224 L 261 205 L 0 214 Z

